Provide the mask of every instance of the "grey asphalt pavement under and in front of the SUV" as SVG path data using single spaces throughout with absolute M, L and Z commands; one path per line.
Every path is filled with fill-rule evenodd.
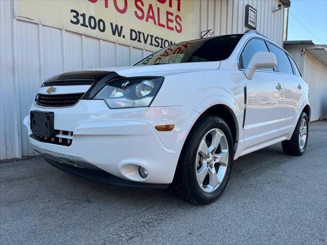
M 327 120 L 301 157 L 281 143 L 235 161 L 215 203 L 107 186 L 43 158 L 0 164 L 0 244 L 327 245 Z

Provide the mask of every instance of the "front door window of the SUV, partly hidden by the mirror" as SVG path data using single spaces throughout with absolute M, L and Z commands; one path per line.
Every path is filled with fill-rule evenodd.
M 240 68 L 241 69 L 245 69 L 247 67 L 247 65 L 249 64 L 252 56 L 256 53 L 256 52 L 269 52 L 268 51 L 268 47 L 266 45 L 266 43 L 261 40 L 261 39 L 252 39 L 244 48 L 242 55 L 240 56 L 240 60 L 239 60 L 239 64 L 240 64 Z M 263 70 L 271 70 L 273 71 L 272 68 L 268 68 L 268 69 L 263 69 Z

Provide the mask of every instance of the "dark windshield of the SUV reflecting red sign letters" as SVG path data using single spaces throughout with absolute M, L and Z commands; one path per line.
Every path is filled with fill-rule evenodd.
M 180 42 L 162 48 L 135 65 L 160 65 L 187 62 L 207 62 L 227 59 L 243 34 L 226 35 L 188 42 Z

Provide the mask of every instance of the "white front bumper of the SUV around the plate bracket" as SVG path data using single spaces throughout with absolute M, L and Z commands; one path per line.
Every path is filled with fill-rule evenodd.
M 29 137 L 32 148 L 50 161 L 61 159 L 84 169 L 94 166 L 125 180 L 153 184 L 172 182 L 184 140 L 199 116 L 184 106 L 112 110 L 102 100 L 81 100 L 69 108 L 33 105 L 31 110 L 53 111 L 55 129 L 74 132 L 70 146 Z M 24 124 L 31 135 L 29 116 Z M 173 131 L 154 128 L 167 124 L 175 125 Z M 147 178 L 139 176 L 139 166 L 148 170 Z

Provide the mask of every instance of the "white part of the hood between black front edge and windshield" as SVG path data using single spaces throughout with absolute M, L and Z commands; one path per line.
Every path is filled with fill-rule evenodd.
M 198 70 L 213 70 L 218 69 L 220 61 L 214 62 L 191 62 L 191 63 L 176 63 L 162 65 L 137 65 L 137 66 L 121 66 L 88 69 L 97 71 L 114 71 L 123 77 L 135 76 L 165 76 L 182 72 L 193 72 Z

